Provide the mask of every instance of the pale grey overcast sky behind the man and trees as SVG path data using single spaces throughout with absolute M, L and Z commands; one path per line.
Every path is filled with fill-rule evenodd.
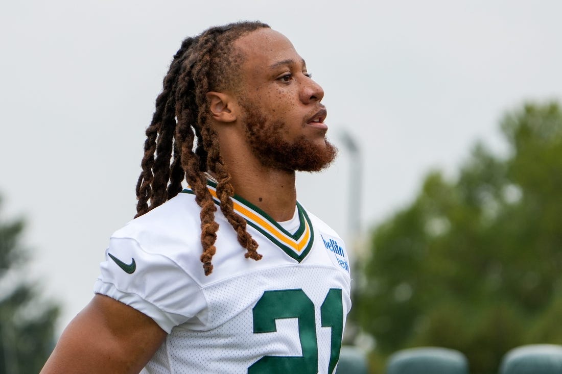
M 292 40 L 325 91 L 339 159 L 298 176 L 298 199 L 350 241 L 405 206 L 430 168 L 454 174 L 477 139 L 498 152 L 502 113 L 562 98 L 562 2 L 11 1 L 0 6 L 2 219 L 25 216 L 30 279 L 64 307 L 92 298 L 108 238 L 135 213 L 144 129 L 180 42 L 259 19 Z

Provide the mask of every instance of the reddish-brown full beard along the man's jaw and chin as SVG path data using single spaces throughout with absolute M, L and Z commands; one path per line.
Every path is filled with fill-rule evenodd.
M 246 138 L 263 166 L 285 171 L 320 171 L 336 158 L 338 149 L 328 140 L 324 139 L 324 145 L 319 145 L 301 135 L 288 142 L 283 136 L 284 122 L 269 121 L 246 103 L 241 106 L 245 112 Z

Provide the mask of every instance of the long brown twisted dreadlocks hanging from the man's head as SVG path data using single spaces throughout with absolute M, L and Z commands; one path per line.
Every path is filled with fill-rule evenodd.
M 234 212 L 231 199 L 234 188 L 220 155 L 216 133 L 207 122 L 206 97 L 207 92 L 232 88 L 237 83 L 234 79 L 238 74 L 233 73 L 244 57 L 234 50 L 233 44 L 260 28 L 269 26 L 261 22 L 236 22 L 209 28 L 197 37 L 183 40 L 164 77 L 152 122 L 146 129 L 135 218 L 177 195 L 185 178 L 201 207 L 201 262 L 205 275 L 212 272 L 211 259 L 216 252 L 219 229 L 215 222 L 215 203 L 203 174 L 206 171 L 217 176 L 220 210 L 237 232 L 238 242 L 246 248 L 244 256 L 261 259 L 256 241 L 246 230 L 246 220 Z

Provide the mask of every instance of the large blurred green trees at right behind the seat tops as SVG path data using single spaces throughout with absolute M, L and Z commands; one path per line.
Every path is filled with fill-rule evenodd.
M 379 359 L 446 346 L 482 374 L 515 346 L 562 343 L 560 106 L 527 104 L 501 129 L 507 156 L 477 144 L 374 230 L 354 307 Z

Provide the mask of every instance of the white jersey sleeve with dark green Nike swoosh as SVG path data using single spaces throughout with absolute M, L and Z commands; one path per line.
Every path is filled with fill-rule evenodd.
M 168 334 L 193 318 L 205 322 L 200 286 L 173 259 L 150 253 L 132 238 L 111 238 L 94 292 L 151 317 Z

